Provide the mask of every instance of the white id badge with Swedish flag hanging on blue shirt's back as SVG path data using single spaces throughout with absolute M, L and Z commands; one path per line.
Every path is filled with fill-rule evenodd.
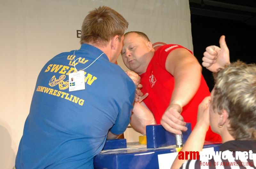
M 84 90 L 84 71 L 68 74 L 69 87 L 68 91 Z

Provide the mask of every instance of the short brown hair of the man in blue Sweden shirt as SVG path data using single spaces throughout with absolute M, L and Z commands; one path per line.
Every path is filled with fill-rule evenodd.
M 116 35 L 121 40 L 127 27 L 128 22 L 121 14 L 107 6 L 100 6 L 90 11 L 84 18 L 80 43 L 106 46 L 108 41 Z

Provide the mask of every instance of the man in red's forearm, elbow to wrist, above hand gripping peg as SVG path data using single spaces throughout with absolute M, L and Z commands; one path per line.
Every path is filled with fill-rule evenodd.
M 173 74 L 175 87 L 170 104 L 176 103 L 184 107 L 194 97 L 200 86 L 202 67 L 198 62 L 187 63 L 185 67 L 181 66 L 176 67 Z

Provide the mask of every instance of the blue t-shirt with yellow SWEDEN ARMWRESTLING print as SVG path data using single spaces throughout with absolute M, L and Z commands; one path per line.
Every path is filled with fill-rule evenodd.
M 89 66 L 102 53 L 83 44 L 75 52 L 76 69 Z M 108 130 L 122 134 L 130 122 L 133 81 L 103 54 L 84 70 L 86 89 L 69 92 L 68 74 L 75 72 L 73 54 L 60 53 L 38 75 L 17 169 L 93 168 L 93 157 L 102 150 Z

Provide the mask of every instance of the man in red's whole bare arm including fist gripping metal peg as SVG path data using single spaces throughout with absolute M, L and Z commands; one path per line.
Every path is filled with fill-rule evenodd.
M 175 87 L 161 124 L 168 131 L 181 134 L 179 130 L 186 131 L 187 127 L 180 113 L 182 113 L 182 107 L 188 104 L 199 88 L 202 67 L 188 50 L 178 48 L 167 56 L 165 68 L 174 76 Z

